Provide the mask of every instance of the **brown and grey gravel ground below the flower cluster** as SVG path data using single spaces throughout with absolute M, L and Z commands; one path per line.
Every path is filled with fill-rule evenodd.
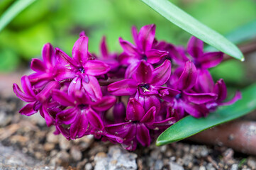
M 43 118 L 20 115 L 22 103 L 0 98 L 0 169 L 256 169 L 256 157 L 187 141 L 128 152 L 89 135 L 67 141 Z

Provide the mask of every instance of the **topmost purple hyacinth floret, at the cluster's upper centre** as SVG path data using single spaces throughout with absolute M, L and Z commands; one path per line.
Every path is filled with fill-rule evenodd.
M 140 60 L 146 60 L 150 64 L 155 64 L 168 55 L 167 51 L 152 48 L 155 39 L 155 24 L 143 26 L 139 33 L 133 27 L 132 34 L 135 45 L 119 38 L 121 47 L 124 50 L 123 54 L 119 57 L 119 61 L 121 64 L 128 65 L 126 78 L 130 78 Z

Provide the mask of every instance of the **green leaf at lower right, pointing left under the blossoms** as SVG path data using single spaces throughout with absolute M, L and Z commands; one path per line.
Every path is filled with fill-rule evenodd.
M 256 108 L 256 84 L 242 91 L 243 98 L 233 105 L 221 106 L 217 111 L 210 113 L 206 118 L 193 118 L 191 115 L 179 120 L 157 138 L 157 146 L 183 140 L 198 132 L 226 123 L 250 113 Z

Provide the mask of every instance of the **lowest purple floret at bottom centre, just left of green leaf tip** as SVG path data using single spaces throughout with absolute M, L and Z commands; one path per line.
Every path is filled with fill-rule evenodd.
M 135 150 L 137 142 L 148 147 L 151 140 L 148 127 L 155 121 L 155 106 L 152 106 L 152 108 L 145 112 L 140 102 L 135 98 L 130 98 L 126 113 L 126 120 L 128 122 L 106 125 L 106 130 L 123 138 L 122 146 L 125 149 Z

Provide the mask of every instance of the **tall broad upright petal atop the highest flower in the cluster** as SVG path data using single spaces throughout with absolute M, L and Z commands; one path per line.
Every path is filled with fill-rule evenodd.
M 151 49 L 155 39 L 155 24 L 143 26 L 138 33 L 138 47 L 146 52 Z

